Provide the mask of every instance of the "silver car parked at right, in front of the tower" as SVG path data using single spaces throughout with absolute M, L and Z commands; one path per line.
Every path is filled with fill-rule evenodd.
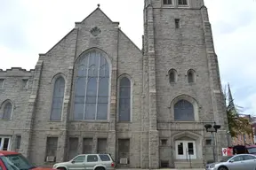
M 256 156 L 239 154 L 224 157 L 220 162 L 207 164 L 205 170 L 256 170 Z

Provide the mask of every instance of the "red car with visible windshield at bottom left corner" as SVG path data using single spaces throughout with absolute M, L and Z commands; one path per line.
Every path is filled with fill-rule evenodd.
M 36 167 L 22 154 L 14 151 L 0 151 L 0 170 L 54 170 Z

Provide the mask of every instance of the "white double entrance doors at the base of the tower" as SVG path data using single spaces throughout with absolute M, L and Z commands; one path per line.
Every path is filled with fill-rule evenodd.
M 177 159 L 196 159 L 196 142 L 176 141 L 175 152 Z

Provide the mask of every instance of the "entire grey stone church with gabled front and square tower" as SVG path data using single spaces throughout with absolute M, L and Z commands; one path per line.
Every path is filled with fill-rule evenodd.
M 44 166 L 107 152 L 117 166 L 200 167 L 215 121 L 220 157 L 227 117 L 204 0 L 145 0 L 142 37 L 140 50 L 99 6 L 35 69 L 0 70 L 0 150 Z

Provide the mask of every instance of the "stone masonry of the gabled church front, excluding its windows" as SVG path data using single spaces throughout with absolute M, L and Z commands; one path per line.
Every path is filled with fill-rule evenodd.
M 90 31 L 93 27 L 99 27 L 100 35 L 93 36 Z M 111 104 L 110 120 L 106 122 L 70 121 L 73 114 L 73 100 L 76 76 L 76 58 L 86 50 L 98 48 L 108 54 L 111 74 Z M 108 17 L 96 9 L 82 22 L 76 23 L 74 28 L 52 50 L 42 54 L 44 67 L 40 80 L 40 89 L 36 103 L 36 117 L 31 144 L 31 159 L 38 165 L 47 165 L 44 162 L 47 136 L 57 136 L 58 154 L 57 162 L 65 157 L 62 150 L 67 152 L 67 141 L 69 137 L 78 136 L 79 145 L 77 154 L 82 153 L 82 141 L 84 137 L 108 138 L 108 152 L 116 158 L 116 140 L 118 138 L 130 138 L 131 141 L 131 166 L 140 167 L 140 97 L 142 94 L 142 54 L 141 51 L 119 30 L 118 23 L 112 22 Z M 70 71 L 72 70 L 71 74 Z M 66 82 L 65 101 L 68 104 L 67 121 L 50 121 L 52 105 L 52 86 L 54 76 L 61 74 Z M 127 74 L 132 79 L 132 123 L 116 123 L 116 93 L 118 90 L 118 77 Z M 67 132 L 65 132 L 67 129 Z M 66 137 L 65 137 L 66 135 Z M 108 137 L 111 136 L 111 137 Z M 113 137 L 114 136 L 114 137 Z M 64 140 L 64 141 L 63 141 Z M 38 150 L 40 145 L 40 150 Z M 114 147 L 113 147 L 114 146 Z M 96 151 L 96 145 L 93 146 Z M 68 157 L 65 157 L 67 159 Z

